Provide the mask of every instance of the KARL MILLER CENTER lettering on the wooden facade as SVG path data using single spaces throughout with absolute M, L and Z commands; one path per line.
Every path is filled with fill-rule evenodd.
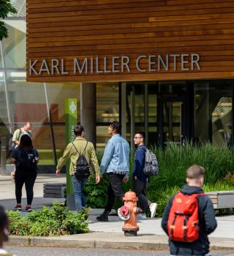
M 40 75 L 88 75 L 148 72 L 184 72 L 200 70 L 200 56 L 197 53 L 162 55 L 104 56 L 66 59 L 29 59 L 29 76 Z

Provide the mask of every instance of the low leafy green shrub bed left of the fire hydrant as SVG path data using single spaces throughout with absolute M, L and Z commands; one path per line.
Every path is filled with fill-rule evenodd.
M 18 236 L 61 236 L 88 233 L 87 211 L 78 214 L 68 211 L 63 203 L 53 203 L 52 208 L 43 207 L 25 217 L 19 211 L 8 211 L 11 219 L 10 234 Z

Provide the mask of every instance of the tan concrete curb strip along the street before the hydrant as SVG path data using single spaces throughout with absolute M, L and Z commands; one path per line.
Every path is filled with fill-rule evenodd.
M 233 249 L 233 238 L 210 238 L 211 250 Z M 59 237 L 10 236 L 7 246 L 51 246 L 114 249 L 168 249 L 167 236 L 140 235 L 124 237 L 123 233 L 94 232 Z

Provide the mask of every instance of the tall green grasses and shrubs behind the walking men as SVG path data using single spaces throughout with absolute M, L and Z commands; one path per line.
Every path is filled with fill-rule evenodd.
M 227 146 L 214 146 L 204 143 L 193 146 L 186 143 L 178 146 L 170 143 L 167 148 L 151 148 L 159 161 L 159 176 L 151 177 L 148 184 L 147 195 L 152 202 L 158 203 L 157 216 L 162 216 L 167 200 L 185 184 L 186 169 L 190 165 L 205 167 L 205 191 L 234 190 L 234 150 Z M 99 154 L 99 159 L 101 159 Z M 134 152 L 130 157 L 129 182 L 124 184 L 124 191 L 132 189 L 132 168 L 134 165 Z M 103 208 L 107 200 L 107 178 L 100 184 L 88 181 L 86 196 L 88 205 Z M 118 208 L 120 203 L 115 203 Z

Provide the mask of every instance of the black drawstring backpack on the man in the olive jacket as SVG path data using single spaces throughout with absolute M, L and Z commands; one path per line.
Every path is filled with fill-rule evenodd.
M 74 143 L 72 145 L 75 147 Z M 86 143 L 86 147 L 88 145 L 88 141 Z M 83 150 L 83 154 L 86 151 L 86 147 Z M 78 149 L 75 147 L 75 150 L 78 151 Z M 78 151 L 78 154 L 80 152 Z M 75 177 L 80 180 L 81 178 L 88 178 L 90 176 L 90 166 L 88 165 L 86 157 L 80 154 L 78 159 L 75 162 L 75 165 L 73 165 L 74 170 L 75 170 Z

